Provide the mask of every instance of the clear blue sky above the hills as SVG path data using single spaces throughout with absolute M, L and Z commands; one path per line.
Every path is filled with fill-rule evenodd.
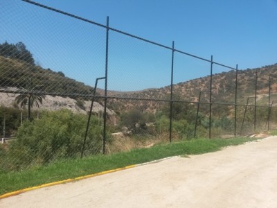
M 277 0 L 36 0 L 120 31 L 239 69 L 277 63 Z M 15 6 L 15 4 L 17 6 Z M 0 0 L 0 42 L 22 41 L 44 68 L 93 85 L 105 73 L 105 29 L 19 0 Z M 111 32 L 109 89 L 170 85 L 171 51 Z M 93 66 L 91 69 L 91 66 Z M 208 62 L 175 53 L 174 83 Z M 214 73 L 229 71 L 215 67 Z M 103 87 L 101 84 L 100 87 Z

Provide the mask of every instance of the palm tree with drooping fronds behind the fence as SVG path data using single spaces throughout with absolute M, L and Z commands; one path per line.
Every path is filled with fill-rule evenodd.
M 29 79 L 24 88 L 24 93 L 19 94 L 15 101 L 17 104 L 20 104 L 20 107 L 24 107 L 28 105 L 28 120 L 30 121 L 30 108 L 39 107 L 39 103 L 42 104 L 42 100 L 45 99 L 45 96 L 41 94 L 39 91 L 34 91 L 35 89 L 42 87 L 42 85 L 33 85 L 32 80 Z

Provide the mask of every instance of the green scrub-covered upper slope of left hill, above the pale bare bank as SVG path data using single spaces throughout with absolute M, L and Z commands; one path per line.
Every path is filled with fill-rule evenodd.
M 15 87 L 22 89 L 32 79 L 32 85 L 42 86 L 46 94 L 87 95 L 93 92 L 93 87 L 84 85 L 64 76 L 62 71 L 55 72 L 43 69 L 37 65 L 0 55 L 0 88 Z

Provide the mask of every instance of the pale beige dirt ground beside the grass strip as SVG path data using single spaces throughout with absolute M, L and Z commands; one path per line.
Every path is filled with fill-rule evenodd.
M 277 207 L 277 137 L 29 191 L 0 207 Z

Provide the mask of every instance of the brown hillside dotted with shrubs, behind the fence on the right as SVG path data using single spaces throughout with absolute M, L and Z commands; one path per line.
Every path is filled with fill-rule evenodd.
M 256 69 L 246 69 L 238 71 L 238 103 L 246 103 L 247 97 L 255 95 L 256 71 L 258 75 L 257 94 L 268 96 L 269 76 L 271 76 L 271 94 L 277 93 L 277 64 L 260 67 Z M 197 102 L 199 92 L 208 91 L 210 87 L 210 76 L 189 80 L 173 86 L 173 92 L 182 101 Z M 113 96 L 118 98 L 135 99 L 168 99 L 170 96 L 170 86 L 159 89 L 145 89 L 141 92 L 127 92 Z M 235 71 L 217 73 L 213 75 L 212 99 L 215 103 L 234 103 L 235 102 Z M 209 94 L 202 94 L 202 102 L 209 101 Z M 134 107 L 141 110 L 156 112 L 162 102 L 154 101 L 132 101 L 131 99 L 122 101 L 113 99 L 109 101 L 109 106 L 117 112 L 129 110 Z

